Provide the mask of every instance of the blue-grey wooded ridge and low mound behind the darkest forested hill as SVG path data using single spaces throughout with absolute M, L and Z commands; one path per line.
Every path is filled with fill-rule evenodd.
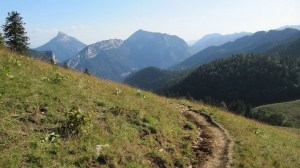
M 239 41 L 239 43 L 236 41 Z M 232 54 L 251 53 L 255 51 L 259 53 L 280 55 L 297 55 L 300 52 L 298 49 L 300 47 L 300 31 L 295 29 L 258 32 L 251 36 L 237 39 L 236 41 L 229 42 L 218 47 L 209 47 L 204 49 L 179 64 L 185 65 L 184 68 L 178 68 L 179 65 L 177 65 L 177 69 L 169 69 L 167 72 L 166 70 L 151 68 L 147 69 L 147 71 L 141 70 L 140 72 L 132 74 L 126 78 L 125 83 L 138 88 L 159 91 L 161 88 L 166 88 L 167 86 L 171 86 L 172 84 L 178 83 L 184 79 L 188 76 L 188 73 L 193 72 L 193 69 L 197 69 L 201 66 L 201 61 L 205 59 L 207 59 L 207 62 L 210 62 L 215 59 L 232 56 Z M 206 55 L 215 57 L 206 57 Z M 152 74 L 152 78 L 148 77 L 147 74 Z M 149 85 L 149 83 L 158 80 L 164 82 L 156 83 L 152 85 L 152 87 Z

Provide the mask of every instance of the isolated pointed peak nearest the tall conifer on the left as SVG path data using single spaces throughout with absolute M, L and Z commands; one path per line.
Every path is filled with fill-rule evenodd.
M 51 39 L 46 44 L 35 48 L 38 51 L 48 51 L 51 50 L 56 55 L 56 58 L 60 63 L 63 63 L 67 59 L 71 58 L 82 50 L 86 45 L 70 37 L 62 32 L 58 32 L 57 36 Z

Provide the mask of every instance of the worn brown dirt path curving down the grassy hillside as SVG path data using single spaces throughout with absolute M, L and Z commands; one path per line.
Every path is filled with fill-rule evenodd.
M 192 163 L 192 167 L 231 167 L 233 143 L 228 132 L 207 114 L 183 105 L 180 109 L 198 129 L 198 137 L 192 141 L 192 148 L 198 160 Z

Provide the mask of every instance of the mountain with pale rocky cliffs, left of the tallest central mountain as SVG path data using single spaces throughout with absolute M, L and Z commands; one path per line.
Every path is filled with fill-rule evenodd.
M 69 67 L 88 71 L 103 79 L 120 81 L 133 70 L 133 63 L 120 48 L 122 40 L 111 39 L 91 44 L 67 61 Z

